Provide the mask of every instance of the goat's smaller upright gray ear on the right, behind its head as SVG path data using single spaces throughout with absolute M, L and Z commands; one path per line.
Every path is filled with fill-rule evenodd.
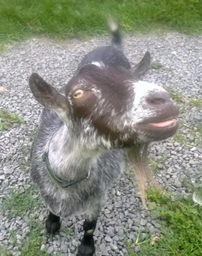
M 144 57 L 142 58 L 142 60 L 135 67 L 132 68 L 131 70 L 132 76 L 135 79 L 139 79 L 142 75 L 144 75 L 144 73 L 146 73 L 149 69 L 150 61 L 151 61 L 151 56 L 150 56 L 150 53 L 147 51 L 144 54 Z

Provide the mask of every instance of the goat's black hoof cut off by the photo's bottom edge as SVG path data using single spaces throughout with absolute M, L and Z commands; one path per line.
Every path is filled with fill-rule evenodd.
M 95 253 L 94 239 L 92 235 L 84 235 L 81 240 L 80 246 L 78 246 L 78 252 L 76 256 L 93 256 Z

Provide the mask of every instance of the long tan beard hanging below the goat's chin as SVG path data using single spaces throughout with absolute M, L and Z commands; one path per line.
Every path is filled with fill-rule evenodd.
M 152 171 L 148 164 L 147 158 L 148 143 L 138 144 L 136 147 L 128 149 L 128 158 L 131 165 L 131 172 L 136 177 L 138 186 L 140 188 L 140 197 L 144 208 L 147 208 L 145 184 L 149 183 L 151 186 L 155 186 L 158 189 L 162 189 L 162 186 L 156 179 L 153 178 Z

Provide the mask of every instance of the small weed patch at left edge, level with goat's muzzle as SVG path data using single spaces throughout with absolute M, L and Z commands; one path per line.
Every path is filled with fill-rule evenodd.
M 10 113 L 6 109 L 0 110 L 0 130 L 9 129 L 14 123 L 23 123 L 24 119 L 15 113 Z

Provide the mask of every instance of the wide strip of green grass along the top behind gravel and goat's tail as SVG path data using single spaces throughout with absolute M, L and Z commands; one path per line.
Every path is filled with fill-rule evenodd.
M 0 6 L 1 45 L 31 35 L 102 35 L 109 14 L 125 32 L 202 31 L 200 0 L 0 0 Z

